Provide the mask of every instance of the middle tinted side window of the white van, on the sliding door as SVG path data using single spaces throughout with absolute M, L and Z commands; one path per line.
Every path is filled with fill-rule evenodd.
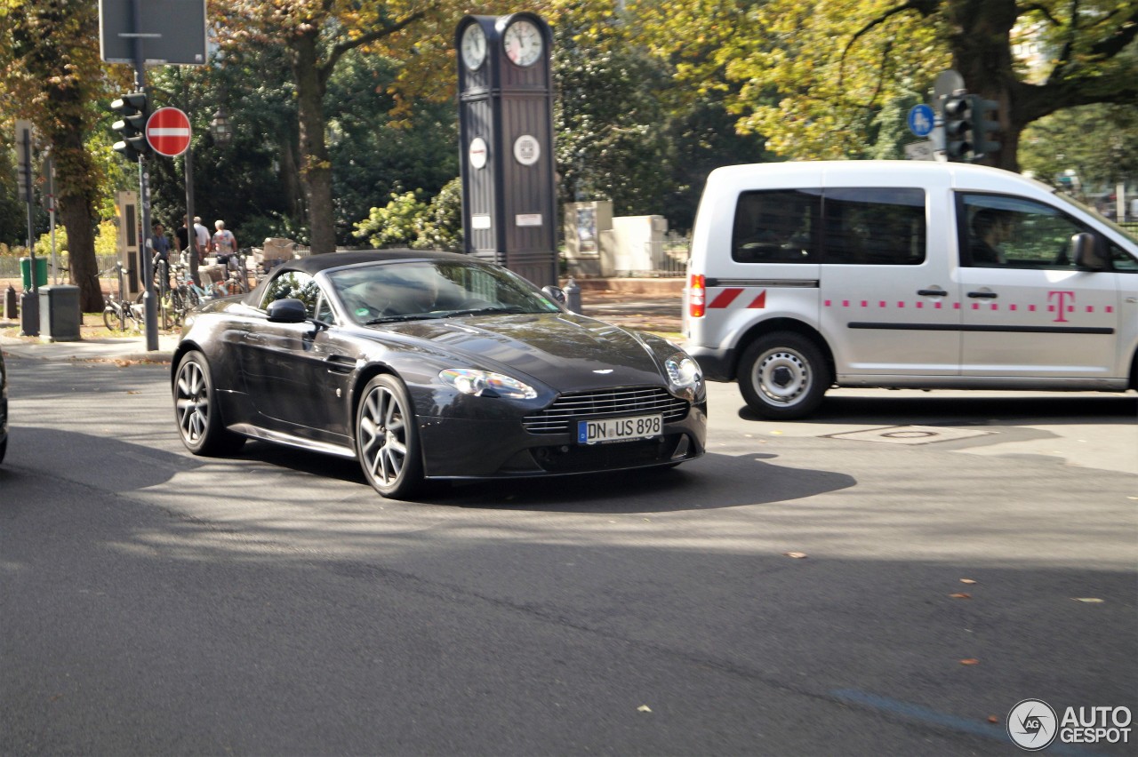
M 824 263 L 915 266 L 925 259 L 925 193 L 915 188 L 827 189 Z

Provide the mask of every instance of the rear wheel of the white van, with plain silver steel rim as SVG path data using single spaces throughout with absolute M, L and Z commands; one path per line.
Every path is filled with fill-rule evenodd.
M 780 331 L 760 336 L 739 361 L 739 390 L 765 418 L 803 418 L 833 383 L 822 350 L 807 336 Z

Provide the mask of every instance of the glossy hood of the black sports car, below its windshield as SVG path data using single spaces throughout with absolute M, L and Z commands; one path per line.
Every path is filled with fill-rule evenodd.
M 386 324 L 469 366 L 525 373 L 560 390 L 665 383 L 635 332 L 568 313 L 464 316 Z

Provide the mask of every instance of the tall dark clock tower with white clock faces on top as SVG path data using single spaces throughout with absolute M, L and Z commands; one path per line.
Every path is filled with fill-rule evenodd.
M 459 22 L 465 251 L 558 283 L 549 25 L 530 13 Z

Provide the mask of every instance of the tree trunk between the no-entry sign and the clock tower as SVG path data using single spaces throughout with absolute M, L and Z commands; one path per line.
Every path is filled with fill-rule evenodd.
M 294 38 L 294 74 L 300 124 L 300 183 L 308 205 L 310 246 L 313 255 L 336 251 L 332 210 L 332 164 L 324 143 L 324 91 L 316 65 L 316 31 Z

